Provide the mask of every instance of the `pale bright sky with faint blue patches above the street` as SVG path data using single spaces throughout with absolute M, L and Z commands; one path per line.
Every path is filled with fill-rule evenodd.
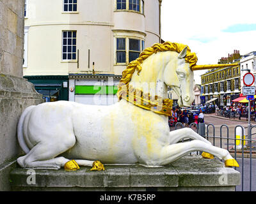
M 256 51 L 256 0 L 163 0 L 161 38 L 188 45 L 196 64 L 218 64 L 234 50 Z M 207 70 L 195 71 L 195 82 Z

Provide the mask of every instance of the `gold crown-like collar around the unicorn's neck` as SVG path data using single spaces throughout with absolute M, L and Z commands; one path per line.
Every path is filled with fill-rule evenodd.
M 160 96 L 154 96 L 152 98 L 149 93 L 143 94 L 143 91 L 135 89 L 129 84 L 124 85 L 119 94 L 121 96 L 120 98 L 145 110 L 151 110 L 152 112 L 166 116 L 172 115 L 172 99 L 163 99 Z

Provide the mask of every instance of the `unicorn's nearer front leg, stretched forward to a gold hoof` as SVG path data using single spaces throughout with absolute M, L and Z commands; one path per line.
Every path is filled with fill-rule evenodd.
M 220 159 L 225 160 L 226 166 L 239 166 L 235 159 L 229 154 L 228 150 L 221 149 L 220 147 L 214 147 L 200 140 L 193 140 L 191 142 L 176 143 L 168 145 L 161 149 L 160 165 L 172 163 L 182 156 L 195 151 L 204 151 L 213 154 Z

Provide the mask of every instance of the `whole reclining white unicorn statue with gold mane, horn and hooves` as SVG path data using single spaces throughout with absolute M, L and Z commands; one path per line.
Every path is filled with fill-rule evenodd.
M 178 94 L 179 106 L 190 106 L 193 71 L 234 66 L 196 65 L 196 61 L 186 45 L 156 43 L 123 71 L 114 105 L 57 101 L 29 106 L 17 128 L 26 153 L 17 163 L 22 168 L 65 170 L 79 166 L 104 170 L 104 164 L 156 167 L 199 150 L 205 158 L 216 156 L 226 166 L 239 166 L 228 150 L 214 147 L 193 129 L 169 130 L 172 100 L 167 98 L 168 86 Z M 180 143 L 183 138 L 191 141 Z

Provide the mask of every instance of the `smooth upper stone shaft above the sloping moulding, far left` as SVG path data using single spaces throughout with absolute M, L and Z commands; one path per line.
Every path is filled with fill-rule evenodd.
M 0 73 L 22 77 L 24 0 L 0 0 Z

